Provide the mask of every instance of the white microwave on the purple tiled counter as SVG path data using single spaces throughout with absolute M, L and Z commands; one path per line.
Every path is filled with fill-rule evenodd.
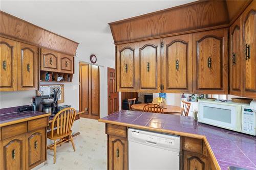
M 256 113 L 247 104 L 199 100 L 198 122 L 256 135 Z

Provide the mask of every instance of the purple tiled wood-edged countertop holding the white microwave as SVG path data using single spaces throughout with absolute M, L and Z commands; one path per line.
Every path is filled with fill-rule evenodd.
M 206 138 L 222 170 L 237 166 L 256 170 L 256 137 L 196 122 L 193 117 L 121 110 L 99 122 Z

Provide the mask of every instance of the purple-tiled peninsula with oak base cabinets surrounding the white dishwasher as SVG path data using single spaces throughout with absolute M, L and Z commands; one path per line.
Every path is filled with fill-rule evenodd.
M 130 127 L 179 135 L 180 169 L 256 169 L 255 136 L 201 124 L 193 117 L 121 110 L 98 121 L 106 123 L 108 169 L 128 169 Z

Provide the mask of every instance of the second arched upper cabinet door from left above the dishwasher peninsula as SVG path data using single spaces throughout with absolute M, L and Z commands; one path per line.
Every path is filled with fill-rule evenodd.
M 137 44 L 139 71 L 138 92 L 160 92 L 161 85 L 161 40 L 141 41 Z

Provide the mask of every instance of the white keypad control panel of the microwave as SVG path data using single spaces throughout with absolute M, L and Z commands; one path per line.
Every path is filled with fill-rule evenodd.
M 256 113 L 245 107 L 242 112 L 242 133 L 256 135 Z

